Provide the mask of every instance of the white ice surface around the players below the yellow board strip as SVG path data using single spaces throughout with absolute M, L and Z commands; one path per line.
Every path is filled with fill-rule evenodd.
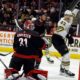
M 11 55 L 5 57 L 0 56 L 0 59 L 8 66 Z M 41 69 L 48 70 L 48 80 L 78 80 L 79 60 L 71 59 L 70 71 L 76 74 L 74 78 L 59 75 L 60 60 L 55 57 L 53 57 L 53 60 L 54 64 L 51 64 L 43 57 L 40 65 Z M 0 80 L 4 80 L 4 69 L 5 67 L 0 62 Z

